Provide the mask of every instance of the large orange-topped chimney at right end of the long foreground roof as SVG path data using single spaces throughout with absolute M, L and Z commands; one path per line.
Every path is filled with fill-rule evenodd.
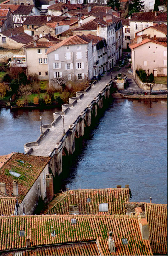
M 142 239 L 149 239 L 148 222 L 142 212 L 141 207 L 135 208 L 135 214 L 138 215 L 138 222 L 141 230 Z

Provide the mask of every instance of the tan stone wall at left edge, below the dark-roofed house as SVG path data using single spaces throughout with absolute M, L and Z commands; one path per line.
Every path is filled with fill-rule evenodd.
M 13 55 L 24 55 L 23 49 L 0 49 L 0 63 L 8 62 L 9 58 L 12 58 Z

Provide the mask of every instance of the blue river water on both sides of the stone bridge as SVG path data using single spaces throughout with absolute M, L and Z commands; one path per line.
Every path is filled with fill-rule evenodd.
M 1 109 L 0 154 L 23 144 L 53 121 L 51 110 Z M 82 150 L 60 188 L 114 188 L 129 184 L 132 202 L 167 203 L 167 101 L 114 99 L 84 136 Z

